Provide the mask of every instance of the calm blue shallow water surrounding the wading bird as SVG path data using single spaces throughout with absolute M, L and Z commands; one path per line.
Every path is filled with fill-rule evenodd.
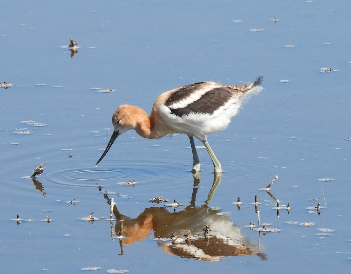
M 348 1 L 1 3 L 0 82 L 15 84 L 0 89 L 1 272 L 348 271 Z M 256 28 L 264 30 L 250 31 Z M 61 48 L 70 37 L 80 47 L 73 55 Z M 201 178 L 193 178 L 181 134 L 147 140 L 126 132 L 95 167 L 119 104 L 149 112 L 157 95 L 180 85 L 242 84 L 258 75 L 265 90 L 225 131 L 208 136 L 224 170 L 220 182 L 213 185 L 204 149 Z M 115 92 L 99 92 L 109 89 Z M 21 123 L 28 120 L 45 126 Z M 21 178 L 43 162 L 36 179 Z M 259 190 L 276 175 L 271 196 Z M 118 184 L 132 180 L 137 184 Z M 257 225 L 255 194 L 261 227 L 279 232 L 244 227 Z M 184 206 L 151 203 L 156 195 Z M 238 197 L 240 208 L 232 204 Z M 114 238 L 121 222 L 107 220 L 111 198 L 124 240 Z M 73 199 L 78 203 L 61 203 Z M 278 214 L 274 199 L 291 210 Z M 318 202 L 319 214 L 308 213 Z M 91 212 L 105 219 L 79 219 Z M 12 221 L 17 214 L 33 221 Z M 52 221 L 41 221 L 47 217 Z M 304 222 L 315 225 L 298 225 Z M 214 237 L 152 240 L 186 230 L 199 235 L 205 225 Z

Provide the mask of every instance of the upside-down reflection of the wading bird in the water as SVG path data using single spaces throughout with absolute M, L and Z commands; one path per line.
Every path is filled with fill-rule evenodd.
M 193 235 L 202 235 L 196 240 L 186 240 L 185 243 L 158 242 L 158 246 L 165 253 L 177 255 L 184 258 L 196 258 L 203 261 L 218 261 L 224 256 L 257 255 L 265 260 L 266 255 L 261 253 L 257 245 L 251 244 L 241 233 L 240 228 L 233 224 L 228 215 L 218 215 L 219 210 L 211 210 L 209 207 L 214 191 L 221 181 L 221 176 L 214 175 L 213 186 L 203 205 L 196 207 L 196 193 L 199 178 L 194 177 L 194 188 L 190 205 L 183 211 L 171 213 L 163 206 L 145 208 L 136 219 L 129 218 L 120 213 L 116 206 L 113 214 L 117 220 L 115 234 L 121 233 L 127 237 L 120 241 L 122 245 L 133 245 L 134 242 L 149 238 L 151 231 L 154 238 L 168 238 L 172 233 L 185 235 L 191 231 Z M 108 199 L 108 203 L 111 200 Z M 112 222 L 112 221 L 111 221 Z M 210 226 L 210 235 L 203 234 L 203 228 Z

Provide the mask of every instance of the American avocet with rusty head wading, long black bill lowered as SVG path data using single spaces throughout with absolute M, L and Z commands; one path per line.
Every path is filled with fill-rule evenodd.
M 193 171 L 200 170 L 194 137 L 204 143 L 210 155 L 214 172 L 221 173 L 221 165 L 207 141 L 207 134 L 224 130 L 235 116 L 243 100 L 263 90 L 262 77 L 245 85 L 220 85 L 215 82 L 198 82 L 166 91 L 157 97 L 150 117 L 132 105 L 120 105 L 112 116 L 114 131 L 98 164 L 111 148 L 115 139 L 127 130 L 134 129 L 141 137 L 157 139 L 171 132 L 188 135 L 193 153 Z

